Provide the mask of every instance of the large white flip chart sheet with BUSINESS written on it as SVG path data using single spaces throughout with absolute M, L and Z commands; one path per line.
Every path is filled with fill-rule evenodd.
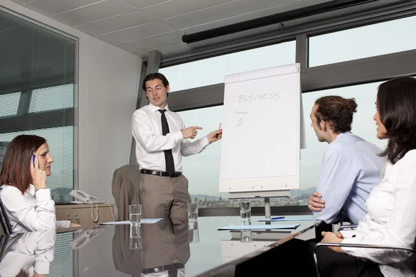
M 225 84 L 220 179 L 296 175 L 299 93 L 298 73 Z

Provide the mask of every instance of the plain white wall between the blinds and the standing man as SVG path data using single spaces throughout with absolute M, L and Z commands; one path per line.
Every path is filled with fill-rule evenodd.
M 112 173 L 130 159 L 141 57 L 10 0 L 0 6 L 78 37 L 78 188 L 114 203 Z

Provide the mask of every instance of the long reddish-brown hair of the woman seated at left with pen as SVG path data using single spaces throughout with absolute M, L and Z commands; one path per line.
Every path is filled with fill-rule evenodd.
M 46 143 L 41 136 L 22 134 L 16 136 L 4 155 L 0 172 L 1 184 L 15 186 L 21 193 L 28 189 L 32 182 L 31 161 L 33 152 Z M 1 185 L 0 184 L 0 185 Z

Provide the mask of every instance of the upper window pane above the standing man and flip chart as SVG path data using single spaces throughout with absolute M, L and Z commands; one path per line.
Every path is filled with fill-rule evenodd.
M 296 42 L 284 42 L 170 66 L 159 72 L 166 75 L 171 91 L 180 91 L 222 83 L 229 74 L 293 64 L 295 52 Z

